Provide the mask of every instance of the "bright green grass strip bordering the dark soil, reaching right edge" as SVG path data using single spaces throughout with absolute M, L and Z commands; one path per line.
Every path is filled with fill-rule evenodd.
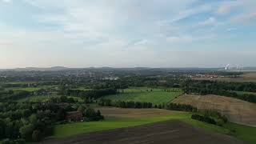
M 54 138 L 66 138 L 77 134 L 86 134 L 102 130 L 113 130 L 117 128 L 141 126 L 154 122 L 163 122 L 167 120 L 181 120 L 191 126 L 202 128 L 206 131 L 218 134 L 230 134 L 243 142 L 254 144 L 256 142 L 256 128 L 242 126 L 234 123 L 227 123 L 225 126 L 211 125 L 206 122 L 199 122 L 190 118 L 191 114 L 178 114 L 172 116 L 160 116 L 153 118 L 110 118 L 100 122 L 74 122 L 54 127 Z M 235 132 L 232 132 L 235 131 Z

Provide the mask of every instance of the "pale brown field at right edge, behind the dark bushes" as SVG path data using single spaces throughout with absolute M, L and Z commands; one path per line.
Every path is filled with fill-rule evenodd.
M 196 106 L 199 110 L 218 110 L 229 118 L 230 122 L 256 126 L 256 104 L 218 95 L 184 94 L 175 103 Z

